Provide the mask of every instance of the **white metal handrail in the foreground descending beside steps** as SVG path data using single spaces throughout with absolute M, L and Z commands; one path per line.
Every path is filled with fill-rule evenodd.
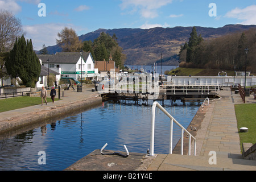
M 171 114 L 169 114 L 158 102 L 154 102 L 152 105 L 152 111 L 151 111 L 151 137 L 150 137 L 150 153 L 149 156 L 155 156 L 154 154 L 154 140 L 155 140 L 155 109 L 158 107 L 160 110 L 163 111 L 164 114 L 166 114 L 170 119 L 170 146 L 169 146 L 169 154 L 172 154 L 172 133 L 173 133 L 173 123 L 175 122 L 177 126 L 181 128 L 181 147 L 180 147 L 180 153 L 183 155 L 183 136 L 184 131 L 189 135 L 188 139 L 188 155 L 191 155 L 191 137 L 195 140 L 194 144 L 194 155 L 196 155 L 196 138 L 193 137 L 182 125 L 180 125 L 179 122 L 176 121 L 174 117 L 172 117 Z

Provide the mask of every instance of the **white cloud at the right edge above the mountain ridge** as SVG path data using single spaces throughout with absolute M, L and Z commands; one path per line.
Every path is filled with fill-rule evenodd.
M 224 17 L 226 18 L 236 18 L 242 20 L 238 24 L 256 24 L 256 5 L 247 6 L 245 9 L 239 9 L 238 7 L 234 10 L 226 13 Z

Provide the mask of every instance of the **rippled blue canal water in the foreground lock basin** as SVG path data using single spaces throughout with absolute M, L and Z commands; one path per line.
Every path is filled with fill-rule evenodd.
M 152 102 L 148 101 L 148 105 L 142 101 L 107 101 L 78 114 L 2 134 L 0 170 L 60 171 L 105 143 L 106 150 L 125 152 L 125 144 L 129 152 L 146 154 L 150 148 Z M 185 128 L 199 109 L 198 103 L 193 102 L 172 106 L 170 101 L 164 101 L 164 107 Z M 156 109 L 155 154 L 168 154 L 169 127 L 170 119 Z M 174 146 L 180 131 L 174 125 Z M 40 164 L 43 161 L 45 164 Z

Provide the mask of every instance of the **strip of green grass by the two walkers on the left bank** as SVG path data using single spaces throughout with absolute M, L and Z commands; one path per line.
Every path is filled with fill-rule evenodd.
M 55 97 L 55 101 L 59 99 Z M 52 102 L 51 98 L 47 98 L 47 102 Z M 41 97 L 15 97 L 15 98 L 7 98 L 0 100 L 0 113 L 20 109 L 23 107 L 29 107 L 34 105 L 39 105 L 42 103 Z

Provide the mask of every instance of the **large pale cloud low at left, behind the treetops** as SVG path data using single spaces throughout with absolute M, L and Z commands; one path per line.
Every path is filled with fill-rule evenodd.
M 46 23 L 23 26 L 23 30 L 26 32 L 26 39 L 32 39 L 34 49 L 39 51 L 43 44 L 46 44 L 46 47 L 55 46 L 57 33 L 64 27 L 73 28 L 74 26 L 64 23 Z

